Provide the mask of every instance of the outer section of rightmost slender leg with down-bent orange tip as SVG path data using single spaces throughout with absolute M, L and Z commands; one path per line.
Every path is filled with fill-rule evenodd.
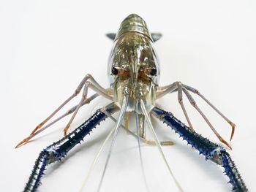
M 233 138 L 233 135 L 235 133 L 235 128 L 236 128 L 236 125 L 235 123 L 233 123 L 231 120 L 229 120 L 228 118 L 226 118 L 225 115 L 222 114 L 222 112 L 220 112 L 216 107 L 214 107 L 213 104 L 211 104 L 210 101 L 208 101 L 208 99 L 206 99 L 199 91 L 197 91 L 195 88 L 192 88 L 192 87 L 189 87 L 188 85 L 184 85 L 184 88 L 186 88 L 188 91 L 191 91 L 192 93 L 195 93 L 197 94 L 198 96 L 200 96 L 200 98 L 202 98 L 204 101 L 206 101 L 206 103 L 208 105 L 211 106 L 211 108 L 213 108 L 217 113 L 219 113 L 220 116 L 222 116 L 222 118 L 224 118 L 227 123 L 230 124 L 231 128 L 232 128 L 232 133 L 231 133 L 231 136 L 230 136 L 230 141 L 232 140 Z

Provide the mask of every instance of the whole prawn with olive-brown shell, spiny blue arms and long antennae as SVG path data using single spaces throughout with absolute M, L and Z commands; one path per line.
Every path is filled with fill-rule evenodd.
M 52 145 L 45 147 L 45 149 L 39 153 L 37 161 L 34 164 L 34 169 L 31 172 L 28 183 L 26 183 L 24 191 L 37 191 L 42 182 L 42 176 L 45 174 L 46 167 L 64 158 L 67 153 L 69 153 L 69 150 L 72 150 L 73 147 L 80 144 L 84 137 L 89 135 L 89 133 L 99 123 L 107 118 L 115 121 L 116 126 L 110 131 L 108 137 L 106 137 L 104 144 L 94 160 L 95 164 L 105 143 L 113 135 L 107 161 L 105 162 L 105 167 L 102 171 L 102 176 L 97 191 L 100 191 L 101 189 L 102 181 L 104 180 L 105 172 L 107 171 L 108 162 L 110 161 L 110 155 L 115 145 L 116 137 L 118 136 L 118 131 L 120 128 L 124 128 L 124 130 L 130 135 L 137 138 L 142 170 L 144 171 L 143 158 L 140 151 L 140 142 L 145 142 L 148 145 L 157 145 L 159 153 L 162 155 L 167 169 L 176 184 L 176 188 L 178 191 L 183 191 L 182 183 L 176 179 L 162 150 L 162 145 L 173 145 L 173 142 L 159 141 L 151 123 L 151 116 L 154 116 L 163 123 L 166 123 L 167 126 L 170 126 L 170 128 L 176 131 L 176 133 L 181 138 L 186 140 L 189 145 L 192 145 L 192 147 L 198 150 L 201 155 L 204 155 L 206 160 L 210 160 L 215 164 L 222 166 L 224 168 L 225 175 L 227 175 L 230 180 L 229 183 L 232 185 L 232 191 L 248 191 L 244 181 L 241 178 L 241 174 L 239 174 L 236 165 L 225 149 L 231 149 L 229 142 L 223 139 L 222 136 L 216 131 L 214 126 L 211 124 L 211 121 L 208 120 L 203 111 L 197 106 L 192 94 L 196 94 L 200 97 L 200 99 L 206 101 L 206 103 L 215 112 L 217 112 L 228 124 L 230 124 L 230 141 L 233 138 L 236 125 L 229 120 L 229 118 L 223 115 L 222 112 L 217 109 L 217 107 L 211 104 L 211 102 L 208 101 L 208 99 L 206 99 L 199 91 L 197 91 L 197 89 L 178 81 L 170 83 L 169 85 L 159 85 L 160 67 L 157 53 L 154 50 L 154 42 L 159 40 L 162 37 L 162 34 L 149 33 L 146 22 L 140 18 L 140 16 L 131 14 L 122 21 L 117 34 L 107 34 L 107 36 L 113 40 L 113 49 L 110 53 L 110 58 L 108 61 L 108 77 L 110 79 L 110 87 L 103 88 L 101 85 L 99 85 L 97 80 L 94 80 L 94 77 L 92 77 L 91 74 L 86 74 L 86 76 L 83 77 L 83 80 L 78 84 L 78 87 L 75 89 L 74 93 L 72 93 L 72 95 L 69 96 L 66 101 L 64 101 L 54 112 L 52 112 L 48 118 L 45 118 L 45 120 L 39 123 L 39 125 L 36 126 L 33 131 L 31 131 L 31 134 L 29 134 L 28 137 L 16 145 L 16 147 L 20 147 L 21 145 L 26 144 L 31 138 L 44 131 L 46 128 L 49 128 L 61 118 L 64 118 L 67 115 L 72 115 L 67 123 L 67 126 L 64 128 L 64 137 L 59 141 L 54 142 Z M 95 93 L 91 96 L 88 96 L 89 88 L 95 91 Z M 169 93 L 176 92 L 178 93 L 177 100 L 187 120 L 187 125 L 181 123 L 181 121 L 175 118 L 172 113 L 166 112 L 165 110 L 157 107 L 157 99 L 162 98 Z M 76 106 L 70 108 L 63 115 L 59 116 L 59 118 L 56 118 L 48 123 L 53 116 L 55 116 L 56 113 L 61 110 L 62 107 L 78 96 L 79 93 L 81 93 L 82 96 Z M 71 126 L 75 115 L 78 113 L 78 110 L 80 110 L 80 107 L 83 107 L 85 104 L 89 104 L 92 100 L 97 98 L 97 96 L 105 97 L 110 101 L 110 104 L 94 112 L 94 115 L 92 115 L 91 118 L 69 133 L 69 127 Z M 192 107 L 195 107 L 195 110 L 197 110 L 199 115 L 206 121 L 208 127 L 211 128 L 216 137 L 219 139 L 219 144 L 211 142 L 209 139 L 197 134 L 195 128 L 192 126 L 192 122 L 189 119 L 189 115 L 183 103 L 183 96 L 186 96 L 187 99 L 189 99 Z M 113 113 L 118 111 L 120 111 L 118 118 L 113 118 Z M 135 132 L 129 128 L 129 115 L 131 112 L 135 113 L 136 117 Z M 123 120 L 125 126 L 122 124 Z M 146 126 L 146 124 L 148 126 Z M 146 127 L 150 129 L 152 135 L 154 136 L 154 140 L 147 139 Z M 92 164 L 91 169 L 94 168 L 94 164 Z M 143 176 L 145 179 L 146 175 L 143 174 Z

